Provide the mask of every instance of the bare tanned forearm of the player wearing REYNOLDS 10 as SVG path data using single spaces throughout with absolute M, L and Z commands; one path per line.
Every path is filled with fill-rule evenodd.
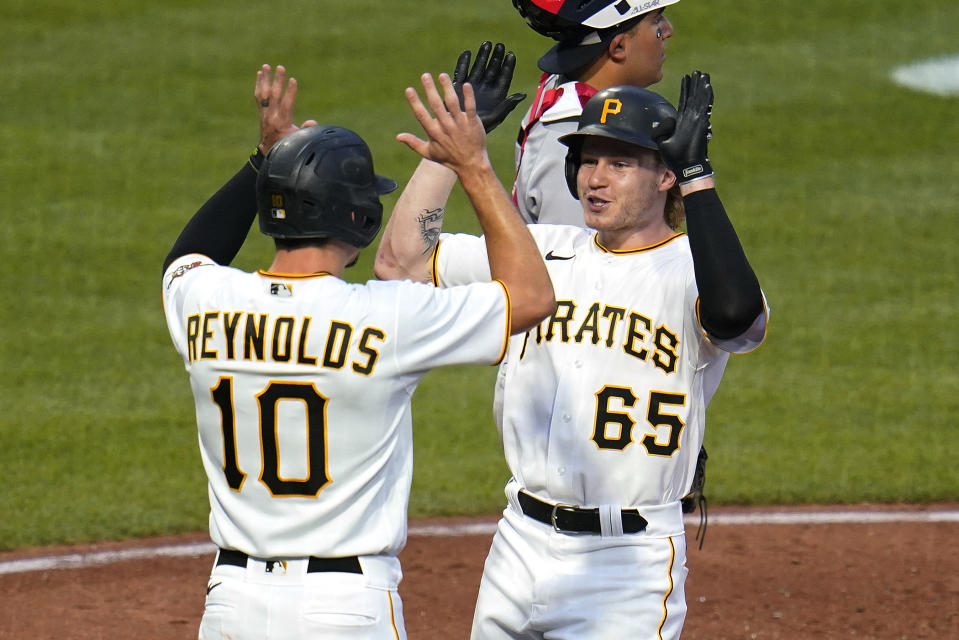
M 492 166 L 461 175 L 460 183 L 483 228 L 490 275 L 509 291 L 510 333 L 526 331 L 556 308 L 539 248 Z

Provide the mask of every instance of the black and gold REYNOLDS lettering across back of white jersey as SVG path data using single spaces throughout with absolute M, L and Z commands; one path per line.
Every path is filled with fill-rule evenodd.
M 376 345 L 386 332 L 364 327 L 353 342 L 354 329 L 346 322 L 330 321 L 323 353 L 311 352 L 309 317 L 278 316 L 243 311 L 207 311 L 186 319 L 187 355 L 197 360 L 251 360 L 287 362 L 328 369 L 347 364 L 358 374 L 368 376 L 379 358 Z

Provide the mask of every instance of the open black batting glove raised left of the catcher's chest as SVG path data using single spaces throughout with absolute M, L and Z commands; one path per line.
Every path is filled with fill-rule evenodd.
M 490 56 L 492 51 L 492 56 Z M 460 98 L 460 108 L 463 108 L 463 84 L 473 85 L 473 95 L 476 96 L 476 115 L 483 122 L 486 133 L 495 129 L 506 116 L 526 98 L 525 93 L 509 92 L 509 85 L 513 81 L 513 69 L 516 67 L 516 56 L 513 52 L 506 53 L 502 43 L 487 41 L 476 51 L 476 60 L 470 69 L 471 53 L 469 49 L 460 54 L 453 71 L 453 87 Z

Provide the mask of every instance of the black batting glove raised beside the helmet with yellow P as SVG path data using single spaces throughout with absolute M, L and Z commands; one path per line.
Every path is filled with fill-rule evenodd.
M 707 144 L 712 138 L 709 116 L 713 112 L 713 86 L 709 74 L 694 71 L 683 76 L 676 118 L 664 118 L 653 125 L 653 139 L 659 145 L 666 166 L 676 174 L 677 184 L 713 175 Z

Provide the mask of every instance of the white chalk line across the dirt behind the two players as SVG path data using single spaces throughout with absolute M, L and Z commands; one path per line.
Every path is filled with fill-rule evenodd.
M 716 513 L 709 516 L 710 525 L 765 525 L 765 524 L 881 524 L 891 522 L 959 522 L 959 511 L 782 511 L 751 513 Z M 697 526 L 699 516 L 686 516 L 686 524 Z M 492 535 L 495 522 L 463 524 L 412 525 L 411 537 L 427 536 L 476 536 Z M 22 560 L 0 562 L 0 575 L 50 571 L 55 569 L 84 569 L 116 562 L 143 560 L 159 557 L 184 557 L 210 555 L 216 551 L 212 542 L 170 544 L 135 549 L 68 553 Z

